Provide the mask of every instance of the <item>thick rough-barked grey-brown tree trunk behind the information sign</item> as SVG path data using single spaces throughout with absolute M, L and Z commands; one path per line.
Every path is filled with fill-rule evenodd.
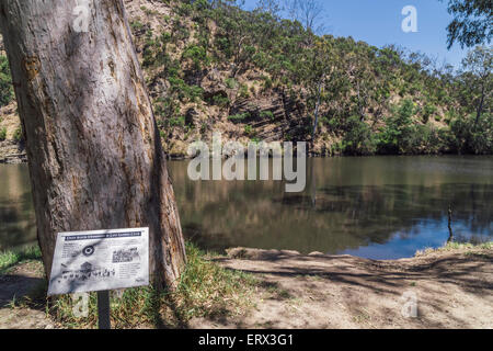
M 49 276 L 59 231 L 149 227 L 173 286 L 179 213 L 122 0 L 1 0 L 3 33 Z

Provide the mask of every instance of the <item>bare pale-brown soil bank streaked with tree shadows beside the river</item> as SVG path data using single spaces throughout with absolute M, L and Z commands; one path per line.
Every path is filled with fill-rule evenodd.
M 493 328 L 493 250 L 439 250 L 412 259 L 232 249 L 216 258 L 261 282 L 241 317 L 195 318 L 190 328 Z M 43 310 L 12 307 L 42 282 L 36 262 L 0 276 L 0 328 L 56 328 Z M 415 294 L 417 316 L 401 313 Z

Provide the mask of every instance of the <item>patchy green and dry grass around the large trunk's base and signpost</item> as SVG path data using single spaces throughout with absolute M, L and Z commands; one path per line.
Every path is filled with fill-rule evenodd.
M 251 275 L 226 270 L 213 262 L 211 254 L 186 245 L 188 263 L 174 292 L 153 286 L 112 292 L 113 328 L 185 328 L 194 317 L 237 316 L 251 307 L 251 295 L 257 282 Z M 37 261 L 37 247 L 0 253 L 0 274 L 27 261 Z M 98 326 L 96 294 L 89 297 L 89 314 L 74 315 L 80 301 L 71 295 L 46 297 L 47 283 L 33 286 L 32 292 L 15 302 L 18 307 L 46 310 L 62 328 L 95 328 Z

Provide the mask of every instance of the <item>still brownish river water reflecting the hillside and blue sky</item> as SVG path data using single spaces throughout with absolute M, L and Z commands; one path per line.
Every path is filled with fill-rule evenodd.
M 184 235 L 205 249 L 244 246 L 372 259 L 493 239 L 493 157 L 309 159 L 303 193 L 275 181 L 191 181 L 170 161 Z M 36 237 L 26 165 L 0 166 L 0 250 Z

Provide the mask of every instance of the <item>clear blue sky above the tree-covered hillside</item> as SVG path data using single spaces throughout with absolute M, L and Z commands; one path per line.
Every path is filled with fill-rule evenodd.
M 444 60 L 459 67 L 467 50 L 460 45 L 447 49 L 447 25 L 451 16 L 447 0 L 325 0 L 323 23 L 325 32 L 334 36 L 353 36 L 370 45 L 381 47 L 397 44 L 413 52 L 422 52 L 437 63 Z M 245 0 L 245 8 L 253 9 L 256 0 Z M 417 33 L 404 33 L 401 14 L 405 5 L 417 10 Z

